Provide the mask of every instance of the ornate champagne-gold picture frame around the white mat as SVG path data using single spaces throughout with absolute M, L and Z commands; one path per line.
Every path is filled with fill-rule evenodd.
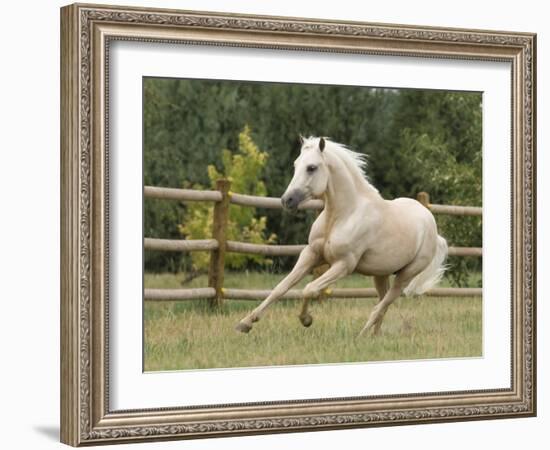
M 109 49 L 117 40 L 511 64 L 511 385 L 478 391 L 113 410 Z M 61 9 L 61 440 L 73 445 L 536 414 L 536 35 L 75 4 Z

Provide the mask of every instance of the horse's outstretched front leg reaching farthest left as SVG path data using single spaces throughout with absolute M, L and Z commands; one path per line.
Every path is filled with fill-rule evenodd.
M 260 303 L 257 308 L 237 324 L 235 329 L 243 333 L 248 333 L 252 329 L 252 324 L 260 320 L 266 308 L 281 298 L 292 286 L 305 277 L 315 264 L 317 264 L 318 260 L 319 256 L 309 245 L 304 248 L 292 271 L 275 286 L 267 298 Z

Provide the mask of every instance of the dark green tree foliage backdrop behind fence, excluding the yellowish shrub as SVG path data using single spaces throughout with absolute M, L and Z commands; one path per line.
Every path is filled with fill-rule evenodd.
M 433 203 L 482 204 L 481 93 L 163 78 L 145 78 L 143 89 L 145 185 L 208 186 L 207 166 L 221 171 L 223 150 L 236 152 L 249 126 L 253 142 L 269 154 L 263 170 L 269 196 L 284 192 L 303 134 L 366 153 L 370 180 L 384 198 L 427 191 Z M 144 235 L 181 238 L 185 214 L 183 204 L 146 199 Z M 261 215 L 266 236 L 285 244 L 304 243 L 315 218 L 279 210 Z M 437 219 L 451 245 L 482 246 L 480 218 Z M 146 252 L 145 269 L 185 270 L 188 258 Z M 278 258 L 271 270 L 287 270 L 294 259 Z M 457 285 L 481 267 L 478 258 L 449 262 Z

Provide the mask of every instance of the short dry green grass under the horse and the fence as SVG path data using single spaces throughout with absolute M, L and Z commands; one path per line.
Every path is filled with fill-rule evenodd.
M 181 288 L 185 274 L 146 274 L 146 288 Z M 282 278 L 269 273 L 226 273 L 225 286 L 269 289 Z M 471 280 L 477 286 L 479 275 Z M 299 286 L 303 286 L 304 280 Z M 206 286 L 199 277 L 185 287 Z M 443 283 L 443 286 L 445 284 Z M 372 287 L 354 275 L 337 287 Z M 399 298 L 386 314 L 379 336 L 358 338 L 375 299 L 313 301 L 314 321 L 298 320 L 300 302 L 280 300 L 249 334 L 235 324 L 257 302 L 227 300 L 218 311 L 206 301 L 145 302 L 146 371 L 222 367 L 327 364 L 475 357 L 482 354 L 480 297 Z

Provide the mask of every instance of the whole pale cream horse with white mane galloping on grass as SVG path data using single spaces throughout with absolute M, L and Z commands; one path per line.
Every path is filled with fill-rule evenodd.
M 391 303 L 401 295 L 418 295 L 440 281 L 445 271 L 447 242 L 438 235 L 430 211 L 410 198 L 384 200 L 365 174 L 364 155 L 328 139 L 302 138 L 300 156 L 281 201 L 295 210 L 312 198 L 325 207 L 313 223 L 308 245 L 292 271 L 236 329 L 249 332 L 266 308 L 313 268 L 330 268 L 306 285 L 300 320 L 311 325 L 308 301 L 336 280 L 353 273 L 372 275 L 379 302 L 360 334 L 377 334 Z M 390 287 L 389 277 L 395 274 Z

